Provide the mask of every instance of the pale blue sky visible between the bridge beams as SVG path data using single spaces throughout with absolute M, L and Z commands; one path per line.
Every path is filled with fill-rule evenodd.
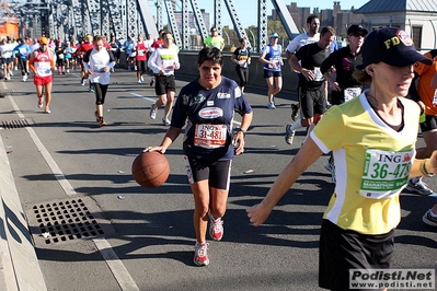
M 369 0 L 337 0 L 342 7 L 342 10 L 350 9 L 352 7 L 355 7 L 355 9 L 358 9 L 369 2 Z M 240 22 L 243 25 L 243 27 L 249 27 L 251 25 L 257 26 L 257 0 L 233 0 L 232 3 L 237 9 L 237 12 L 241 11 L 239 13 Z M 322 9 L 333 9 L 334 7 L 334 0 L 318 0 L 318 1 L 308 1 L 308 0 L 284 0 L 286 5 L 290 5 L 291 2 L 297 3 L 298 7 L 310 7 L 311 12 L 314 8 L 319 8 L 319 10 Z M 314 3 L 317 2 L 317 5 L 309 5 L 309 2 Z M 206 12 L 209 12 L 211 14 L 211 18 L 214 18 L 214 0 L 197 0 L 198 5 L 200 9 L 205 9 Z M 222 9 L 222 16 L 221 16 L 221 22 L 222 25 L 229 25 L 232 27 L 232 22 L 229 18 L 229 13 L 227 10 L 227 7 L 225 4 L 225 1 L 222 0 L 221 2 L 221 9 Z M 189 5 L 191 8 L 191 5 Z M 177 7 L 176 7 L 177 9 Z M 273 4 L 272 1 L 267 1 L 267 15 L 272 14 L 273 10 Z M 244 14 L 243 14 L 244 13 Z M 245 16 L 244 16 L 245 15 Z M 249 16 L 248 16 L 249 15 Z M 214 22 L 214 19 L 211 19 Z

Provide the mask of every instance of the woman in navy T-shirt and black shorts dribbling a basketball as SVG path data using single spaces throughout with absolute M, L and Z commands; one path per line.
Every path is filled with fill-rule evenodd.
M 197 266 L 209 264 L 208 217 L 211 238 L 220 241 L 223 235 L 221 218 L 226 212 L 232 160 L 244 151 L 245 131 L 252 123 L 252 107 L 238 84 L 221 75 L 222 66 L 223 56 L 218 48 L 206 47 L 199 51 L 200 77 L 181 90 L 161 146 L 145 149 L 164 153 L 186 125 L 183 151 L 195 205 L 194 263 Z M 242 118 L 233 136 L 234 112 Z

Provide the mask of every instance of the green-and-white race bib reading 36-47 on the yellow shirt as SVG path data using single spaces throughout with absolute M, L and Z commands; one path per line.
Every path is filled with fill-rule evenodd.
M 398 195 L 409 181 L 414 150 L 367 150 L 359 195 L 370 199 Z

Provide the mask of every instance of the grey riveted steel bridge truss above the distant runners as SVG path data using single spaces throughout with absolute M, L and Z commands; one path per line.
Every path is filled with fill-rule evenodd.
M 267 1 L 257 0 L 257 42 L 250 42 L 242 26 L 234 0 L 214 0 L 214 20 L 203 10 L 197 0 L 27 0 L 21 3 L 22 22 L 27 27 L 24 34 L 31 37 L 47 35 L 60 39 L 78 39 L 85 34 L 115 35 L 118 39 L 137 38 L 138 34 L 158 37 L 161 28 L 170 30 L 176 45 L 189 50 L 193 39 L 208 36 L 208 26 L 216 26 L 222 33 L 222 13 L 227 13 L 239 38 L 246 38 L 255 51 L 268 44 Z M 238 0 L 237 0 L 238 1 Z M 284 0 L 272 0 L 288 36 L 292 38 L 298 30 Z M 223 5 L 225 3 L 225 5 Z M 152 13 L 152 8 L 156 13 Z M 39 16 L 39 21 L 35 18 Z M 165 22 L 164 16 L 168 18 Z M 251 15 L 252 16 L 252 15 Z M 212 20 L 212 23 L 211 23 Z M 32 27 L 32 24 L 37 27 Z M 165 23 L 165 24 L 164 24 Z M 252 33 L 252 32 L 251 32 Z M 203 43 L 203 42 L 202 42 Z

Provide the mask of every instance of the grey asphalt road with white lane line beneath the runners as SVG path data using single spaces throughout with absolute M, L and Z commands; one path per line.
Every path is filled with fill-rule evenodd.
M 177 79 L 179 92 L 188 80 Z M 130 175 L 135 156 L 159 144 L 166 130 L 162 109 L 157 120 L 149 118 L 156 96 L 148 80 L 138 84 L 125 70 L 112 74 L 103 128 L 93 115 L 94 96 L 77 72 L 55 75 L 51 114 L 36 106 L 31 80 L 12 77 L 4 84 L 12 93 L 0 98 L 1 121 L 30 125 L 0 135 L 48 290 L 319 290 L 320 224 L 333 191 L 326 156 L 299 178 L 264 225 L 252 226 L 244 211 L 265 196 L 303 141 L 304 131 L 294 146 L 284 140 L 296 96 L 279 93 L 277 109 L 269 110 L 265 89 L 246 89 L 254 119 L 246 150 L 232 164 L 225 236 L 208 241 L 210 265 L 200 268 L 193 264 L 193 198 L 182 137 L 166 152 L 171 174 L 164 185 L 142 188 Z M 437 190 L 436 178 L 425 181 Z M 393 268 L 436 268 L 436 229 L 422 222 L 435 197 L 403 194 L 401 200 Z

